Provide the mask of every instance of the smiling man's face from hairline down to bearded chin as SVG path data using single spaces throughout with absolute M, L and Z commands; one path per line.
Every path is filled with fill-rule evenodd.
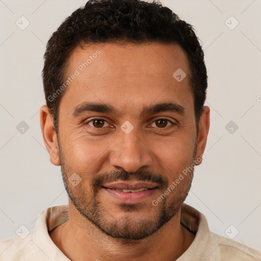
M 186 54 L 176 44 L 96 44 L 74 50 L 66 75 L 75 69 L 59 106 L 58 162 L 69 199 L 108 235 L 146 238 L 177 214 L 193 170 L 176 180 L 205 146 Z M 177 69 L 182 81 L 172 76 Z

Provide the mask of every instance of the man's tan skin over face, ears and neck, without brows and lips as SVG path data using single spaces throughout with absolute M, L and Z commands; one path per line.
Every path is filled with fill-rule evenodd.
M 40 112 L 50 161 L 61 165 L 69 196 L 69 220 L 50 237 L 71 260 L 175 260 L 195 237 L 180 224 L 180 206 L 193 171 L 157 206 L 151 202 L 203 154 L 210 109 L 204 107 L 197 135 L 189 62 L 177 44 L 76 48 L 66 75 L 96 50 L 99 56 L 61 99 L 59 139 L 48 108 L 43 106 Z M 181 82 L 172 76 L 178 68 L 186 73 Z M 87 111 L 73 116 L 74 108 L 83 102 L 113 106 L 117 114 Z M 182 106 L 184 112 L 141 114 L 146 107 L 169 102 Z M 95 125 L 93 118 L 105 121 Z M 169 121 L 157 123 L 159 119 Z M 128 134 L 120 128 L 125 121 L 134 127 Z M 82 179 L 75 187 L 68 181 L 72 173 Z M 142 202 L 122 204 L 102 188 L 105 181 L 120 179 L 156 180 L 158 188 Z

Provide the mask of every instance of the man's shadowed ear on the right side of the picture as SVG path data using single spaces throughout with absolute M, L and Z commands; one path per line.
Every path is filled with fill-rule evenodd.
M 209 129 L 210 129 L 210 108 L 208 106 L 204 106 L 198 124 L 197 153 L 196 153 L 196 161 L 195 161 L 196 165 L 200 165 L 202 162 L 202 159 L 200 161 L 199 160 L 197 161 L 197 159 L 202 158 L 206 146 L 206 139 L 207 139 L 207 134 Z

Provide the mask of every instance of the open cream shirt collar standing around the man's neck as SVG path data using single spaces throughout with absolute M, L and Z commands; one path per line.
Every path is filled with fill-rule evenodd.
M 68 218 L 68 205 L 48 207 L 38 216 L 35 230 L 33 232 L 33 242 L 51 260 L 69 260 L 49 236 L 50 231 L 66 222 Z M 202 245 L 207 244 L 210 235 L 210 229 L 208 228 L 206 218 L 194 207 L 183 203 L 181 206 L 180 223 L 192 233 L 195 233 L 196 236 L 187 251 L 182 254 L 177 261 L 184 259 L 189 260 L 193 256 L 194 251 L 196 251 L 197 258 L 200 259 L 200 257 L 203 257 L 205 253 Z

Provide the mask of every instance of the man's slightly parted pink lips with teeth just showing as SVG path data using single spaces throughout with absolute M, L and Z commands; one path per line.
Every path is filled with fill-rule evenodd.
M 105 191 L 119 203 L 137 204 L 148 200 L 159 188 L 158 184 L 145 181 L 117 181 L 103 184 Z

